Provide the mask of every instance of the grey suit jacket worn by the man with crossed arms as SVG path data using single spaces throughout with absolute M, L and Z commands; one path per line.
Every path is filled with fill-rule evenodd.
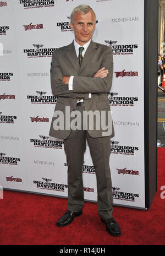
M 106 78 L 94 78 L 94 74 L 98 69 L 105 67 L 109 70 Z M 68 85 L 64 84 L 63 76 L 74 75 L 73 79 L 73 91 L 68 89 Z M 100 43 L 93 42 L 87 48 L 81 67 L 79 66 L 78 58 L 76 56 L 74 42 L 68 46 L 58 48 L 53 52 L 51 62 L 51 87 L 53 95 L 58 96 L 54 115 L 52 118 L 50 136 L 66 139 L 71 128 L 65 127 L 65 118 L 69 117 L 70 113 L 74 113 L 76 110 L 76 102 L 78 98 L 84 100 L 84 106 L 86 111 L 96 111 L 100 114 L 104 112 L 106 120 L 105 125 L 101 124 L 102 118 L 95 118 L 94 115 L 94 127 L 89 127 L 89 122 L 86 123 L 87 132 L 93 138 L 109 136 L 112 134 L 112 117 L 108 102 L 107 92 L 109 92 L 112 84 L 113 75 L 113 54 L 111 47 L 101 45 Z M 89 92 L 91 92 L 91 98 L 89 99 Z M 65 107 L 69 107 L 70 112 L 66 112 Z M 64 115 L 64 129 L 54 129 L 54 121 L 57 121 L 57 111 L 62 111 Z M 103 111 L 101 113 L 101 111 Z M 69 117 L 70 122 L 75 117 Z M 109 118 L 109 119 L 108 119 Z M 103 120 L 103 122 L 105 122 Z M 99 124 L 100 123 L 100 128 Z M 56 128 L 57 129 L 57 128 Z M 103 134 L 103 132 L 107 132 Z

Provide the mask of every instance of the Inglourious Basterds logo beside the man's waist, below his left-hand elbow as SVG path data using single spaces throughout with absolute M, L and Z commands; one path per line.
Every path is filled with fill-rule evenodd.
M 27 95 L 31 104 L 56 104 L 57 96 L 45 95 L 46 91 L 36 91 L 38 95 Z

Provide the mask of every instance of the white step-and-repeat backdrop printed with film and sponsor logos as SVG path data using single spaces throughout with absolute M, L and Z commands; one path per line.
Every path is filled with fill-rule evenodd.
M 73 41 L 70 14 L 82 3 L 97 15 L 92 40 L 113 51 L 114 205 L 145 208 L 144 0 L 0 1 L 0 185 L 67 198 L 63 140 L 49 136 L 57 102 L 50 66 L 53 51 Z M 83 180 L 85 199 L 96 202 L 88 146 Z

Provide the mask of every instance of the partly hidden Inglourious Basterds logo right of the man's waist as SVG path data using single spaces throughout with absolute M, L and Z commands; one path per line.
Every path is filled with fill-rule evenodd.
M 138 97 L 118 97 L 118 92 L 108 92 L 108 100 L 111 106 L 126 106 L 134 107 L 135 102 L 138 101 Z

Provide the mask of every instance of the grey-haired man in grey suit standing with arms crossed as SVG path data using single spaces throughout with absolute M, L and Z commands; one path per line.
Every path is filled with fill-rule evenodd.
M 75 39 L 54 51 L 51 63 L 52 92 L 58 95 L 58 100 L 50 135 L 64 139 L 68 164 L 68 210 L 57 221 L 57 226 L 69 225 L 74 217 L 83 213 L 83 162 L 87 140 L 96 171 L 97 213 L 106 224 L 107 232 L 119 236 L 120 228 L 112 217 L 109 169 L 113 127 L 107 92 L 112 84 L 112 50 L 91 40 L 96 25 L 96 14 L 91 7 L 82 4 L 74 8 L 70 20 Z M 61 127 L 58 126 L 60 113 L 63 114 Z M 74 113 L 79 116 L 76 121 Z

